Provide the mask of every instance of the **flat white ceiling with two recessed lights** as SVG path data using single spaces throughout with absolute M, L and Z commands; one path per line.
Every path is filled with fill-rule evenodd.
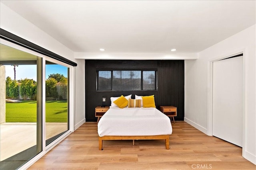
M 1 2 L 83 53 L 198 53 L 256 23 L 254 0 Z

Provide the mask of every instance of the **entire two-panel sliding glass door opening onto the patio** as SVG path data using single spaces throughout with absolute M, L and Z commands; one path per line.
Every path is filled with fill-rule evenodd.
M 0 169 L 17 169 L 70 133 L 69 66 L 0 45 Z

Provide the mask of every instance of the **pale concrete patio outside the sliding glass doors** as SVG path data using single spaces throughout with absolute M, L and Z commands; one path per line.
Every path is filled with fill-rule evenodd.
M 46 139 L 67 130 L 67 123 L 46 123 Z M 0 124 L 0 161 L 36 145 L 36 123 Z

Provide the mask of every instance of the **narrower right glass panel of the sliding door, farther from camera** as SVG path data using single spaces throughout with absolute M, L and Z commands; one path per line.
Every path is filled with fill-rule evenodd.
M 46 61 L 46 145 L 69 129 L 68 82 L 68 67 Z

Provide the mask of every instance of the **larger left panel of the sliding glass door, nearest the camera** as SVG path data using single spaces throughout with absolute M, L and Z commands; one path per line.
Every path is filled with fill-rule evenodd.
M 42 151 L 42 58 L 0 51 L 0 169 L 16 169 Z

